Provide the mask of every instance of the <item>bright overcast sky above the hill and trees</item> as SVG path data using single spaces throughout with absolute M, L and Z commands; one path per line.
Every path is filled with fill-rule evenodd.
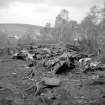
M 0 0 L 0 23 L 54 24 L 61 9 L 67 9 L 70 19 L 80 22 L 91 6 L 101 6 L 103 2 L 104 0 Z

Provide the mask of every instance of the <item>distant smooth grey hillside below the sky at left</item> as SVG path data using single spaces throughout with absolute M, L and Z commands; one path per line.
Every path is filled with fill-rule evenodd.
M 0 33 L 21 36 L 30 31 L 34 34 L 39 34 L 41 28 L 41 26 L 28 24 L 0 24 Z

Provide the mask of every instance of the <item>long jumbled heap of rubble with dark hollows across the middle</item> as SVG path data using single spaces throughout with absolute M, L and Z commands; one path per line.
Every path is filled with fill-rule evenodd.
M 77 49 L 77 50 L 76 50 Z M 38 63 L 42 64 L 48 71 L 55 74 L 79 68 L 81 71 L 104 70 L 102 62 L 98 62 L 86 54 L 79 51 L 79 48 L 69 45 L 69 47 L 59 48 L 50 47 L 32 47 L 30 49 L 22 49 L 12 55 L 13 59 L 25 60 L 27 66 L 33 67 Z

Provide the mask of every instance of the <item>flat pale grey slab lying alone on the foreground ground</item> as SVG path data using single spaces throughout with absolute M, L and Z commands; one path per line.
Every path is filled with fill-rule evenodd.
M 48 86 L 59 86 L 61 81 L 57 78 L 49 78 L 49 77 L 44 77 L 42 78 L 42 82 L 44 83 L 44 85 L 48 85 Z

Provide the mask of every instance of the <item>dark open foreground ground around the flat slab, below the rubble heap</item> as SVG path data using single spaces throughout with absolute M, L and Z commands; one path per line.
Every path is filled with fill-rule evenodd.
M 27 72 L 34 70 L 34 81 Z M 97 79 L 97 74 L 102 78 Z M 44 76 L 53 77 L 43 67 L 26 68 L 25 61 L 0 58 L 0 105 L 105 105 L 105 72 L 56 75 L 59 87 L 35 95 L 33 88 Z

